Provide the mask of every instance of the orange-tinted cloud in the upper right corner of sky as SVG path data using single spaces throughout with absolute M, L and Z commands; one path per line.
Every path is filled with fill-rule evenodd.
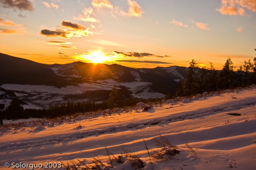
M 255 0 L 222 0 L 216 10 L 225 15 L 244 15 L 244 8 L 256 12 Z

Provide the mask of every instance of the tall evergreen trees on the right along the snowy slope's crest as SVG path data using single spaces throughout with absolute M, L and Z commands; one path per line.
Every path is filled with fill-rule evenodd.
M 191 96 L 256 83 L 256 57 L 252 62 L 244 60 L 244 64 L 237 71 L 234 70 L 233 64 L 230 57 L 228 57 L 222 70 L 216 70 L 212 63 L 210 63 L 210 68 L 198 68 L 196 61 L 192 59 L 189 63 L 186 78 L 178 82 L 176 96 Z

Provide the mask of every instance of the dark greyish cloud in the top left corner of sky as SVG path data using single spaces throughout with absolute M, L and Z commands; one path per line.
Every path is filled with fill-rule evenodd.
M 4 8 L 14 8 L 18 9 L 20 11 L 27 10 L 27 11 L 33 11 L 33 5 L 32 2 L 29 0 L 0 0 L 2 6 Z

